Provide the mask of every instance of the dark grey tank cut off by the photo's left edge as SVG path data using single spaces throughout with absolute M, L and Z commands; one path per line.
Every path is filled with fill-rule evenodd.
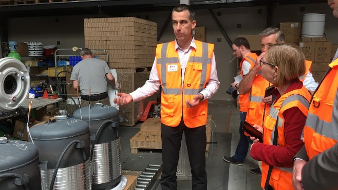
M 39 151 L 34 144 L 2 137 L 0 151 L 1 190 L 41 189 Z

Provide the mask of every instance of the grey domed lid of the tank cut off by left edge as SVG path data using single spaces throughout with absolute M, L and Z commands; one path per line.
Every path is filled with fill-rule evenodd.
M 39 159 L 39 150 L 31 142 L 9 140 L 0 144 L 0 150 L 0 173 L 15 170 Z

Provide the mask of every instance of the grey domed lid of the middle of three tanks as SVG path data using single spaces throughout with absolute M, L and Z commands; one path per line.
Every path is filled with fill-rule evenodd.
M 79 119 L 68 118 L 50 121 L 45 124 L 32 126 L 30 134 L 34 139 L 63 139 L 89 132 L 88 123 Z

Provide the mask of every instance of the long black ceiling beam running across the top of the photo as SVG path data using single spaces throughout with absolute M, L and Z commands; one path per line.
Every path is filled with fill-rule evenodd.
M 0 15 L 5 17 L 23 17 L 23 16 L 54 16 L 54 15 L 76 15 L 76 14 L 97 14 L 99 8 L 111 14 L 123 15 L 125 12 L 153 12 L 153 11 L 171 11 L 179 0 L 123 0 L 123 1 L 74 1 L 74 2 L 56 2 L 56 3 L 37 3 L 24 5 L 6 5 L 0 6 Z M 192 1 L 193 2 L 193 1 Z M 238 3 L 218 3 L 192 5 L 193 9 L 218 9 L 218 8 L 236 8 L 288 5 L 288 4 L 306 4 L 306 3 L 326 3 L 326 0 L 256 0 L 252 2 Z

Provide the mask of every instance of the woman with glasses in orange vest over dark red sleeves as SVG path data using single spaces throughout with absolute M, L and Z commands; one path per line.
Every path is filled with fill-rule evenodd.
M 308 90 L 298 79 L 305 73 L 305 56 L 298 47 L 273 45 L 260 60 L 262 77 L 271 82 L 276 99 L 264 121 L 263 143 L 254 140 L 251 157 L 262 161 L 261 186 L 264 189 L 293 189 L 293 157 L 304 145 L 301 140 L 309 101 Z M 292 69 L 291 69 L 292 68 Z

